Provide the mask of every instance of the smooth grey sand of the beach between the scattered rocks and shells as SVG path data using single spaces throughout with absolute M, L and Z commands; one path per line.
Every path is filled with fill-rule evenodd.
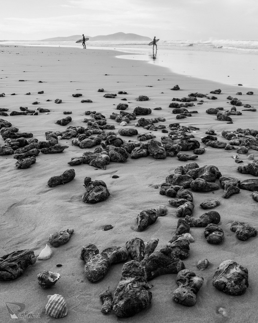
M 62 47 L 23 47 L 1 46 L 1 78 L 0 108 L 11 111 L 20 111 L 20 107 L 36 109 L 38 107 L 49 109 L 50 112 L 38 115 L 0 116 L 1 119 L 12 123 L 19 132 L 31 132 L 33 138 L 45 141 L 46 131 L 64 131 L 68 126 L 87 127 L 83 120 L 89 116 L 85 111 L 97 111 L 105 115 L 107 124 L 114 124 L 115 131 L 121 128 L 134 128 L 139 134 L 149 132 L 143 127 L 135 127 L 141 117 L 166 119 L 155 125 L 169 125 L 179 122 L 181 126 L 194 126 L 194 138 L 205 147 L 205 152 L 194 160 L 200 167 L 214 165 L 218 167 L 222 176 L 230 176 L 239 180 L 255 178 L 250 174 L 237 171 L 240 164 L 232 158 L 235 150 L 224 150 L 207 147 L 201 142 L 206 136 L 205 131 L 214 129 L 219 141 L 229 141 L 221 135 L 223 130 L 235 131 L 238 128 L 257 130 L 257 112 L 242 111 L 245 104 L 250 104 L 257 109 L 258 89 L 243 86 L 220 84 L 205 79 L 188 78 L 184 75 L 172 73 L 165 67 L 148 64 L 146 61 L 119 59 L 121 52 L 115 50 L 98 50 Z M 124 53 L 124 55 L 127 55 Z M 241 77 L 239 78 L 241 80 Z M 19 81 L 24 80 L 24 81 Z M 41 81 L 39 83 L 39 81 Z M 171 91 L 175 85 L 180 90 Z M 98 92 L 98 89 L 104 92 Z M 197 110 L 191 117 L 177 120 L 169 104 L 173 98 L 187 97 L 188 94 L 198 92 L 212 96 L 210 91 L 221 89 L 221 94 L 215 95 L 217 99 L 211 100 L 203 97 L 203 104 L 197 105 L 201 98 L 194 101 L 194 106 L 188 110 Z M 44 91 L 43 94 L 38 94 Z M 117 94 L 125 91 L 127 94 Z M 253 95 L 247 95 L 253 91 Z M 30 95 L 26 93 L 30 92 Z M 236 95 L 242 92 L 242 95 Z M 15 95 L 11 95 L 15 93 Z M 72 94 L 81 93 L 80 97 Z M 103 97 L 106 93 L 116 93 L 114 99 Z M 148 101 L 137 101 L 140 95 L 149 97 Z M 232 115 L 233 122 L 218 121 L 216 115 L 207 114 L 209 108 L 223 107 L 224 111 L 230 110 L 228 96 L 237 97 L 242 101 L 242 106 L 237 106 L 237 111 L 242 115 Z M 126 98 L 127 100 L 121 100 Z M 56 104 L 56 99 L 62 103 Z M 92 102 L 81 103 L 81 100 Z M 47 101 L 49 100 L 49 101 Z M 32 102 L 38 101 L 37 105 Z M 116 109 L 119 103 L 129 105 L 126 112 L 140 106 L 150 108 L 148 116 L 137 116 L 126 127 L 110 119 L 110 115 L 119 113 Z M 179 102 L 181 103 L 181 102 Z M 160 110 L 154 108 L 161 107 Z M 64 115 L 63 111 L 72 111 Z M 56 124 L 57 120 L 70 116 L 72 121 L 67 126 Z M 152 131 L 155 140 L 168 135 L 160 129 Z M 96 136 L 96 135 L 94 135 Z M 137 136 L 120 136 L 125 141 L 137 141 Z M 185 267 L 191 269 L 197 276 L 204 278 L 203 285 L 197 294 L 197 302 L 192 307 L 183 306 L 172 300 L 172 293 L 178 287 L 176 274 L 161 275 L 149 281 L 153 286 L 150 291 L 152 300 L 150 306 L 130 318 L 118 318 L 114 313 L 103 315 L 100 311 L 102 302 L 99 294 L 109 286 L 114 293 L 120 277 L 123 263 L 113 264 L 108 269 L 106 276 L 96 283 L 91 283 L 84 275 L 84 261 L 80 258 L 80 251 L 84 245 L 95 244 L 99 252 L 107 247 L 122 246 L 134 237 L 141 238 L 144 242 L 151 238 L 158 238 L 157 250 L 165 246 L 175 235 L 178 217 L 176 207 L 168 202 L 170 197 L 160 195 L 160 185 L 166 177 L 173 174 L 174 170 L 190 161 L 179 161 L 175 157 L 164 160 L 154 159 L 152 155 L 145 158 L 131 159 L 123 162 L 111 162 L 106 170 L 97 169 L 88 164 L 69 166 L 67 162 L 73 157 L 82 156 L 84 151 L 94 151 L 94 146 L 89 149 L 80 149 L 71 143 L 72 139 L 60 140 L 62 145 L 69 146 L 61 153 L 39 153 L 36 163 L 28 169 L 16 169 L 13 155 L 0 156 L 1 168 L 1 228 L 0 256 L 16 250 L 31 249 L 37 256 L 41 250 L 49 245 L 49 235 L 61 230 L 73 228 L 74 233 L 67 244 L 57 248 L 51 246 L 53 255 L 46 261 L 37 261 L 28 266 L 23 275 L 12 281 L 0 282 L 1 286 L 1 318 L 5 322 L 11 321 L 7 311 L 6 302 L 24 303 L 26 315 L 39 315 L 35 321 L 53 322 L 45 314 L 47 295 L 60 294 L 67 303 L 68 314 L 62 322 L 162 322 L 162 323 L 199 323 L 199 322 L 254 322 L 258 318 L 258 282 L 256 272 L 257 236 L 246 241 L 240 241 L 235 233 L 230 230 L 233 221 L 251 224 L 258 229 L 257 202 L 252 198 L 252 192 L 240 190 L 229 199 L 223 198 L 223 189 L 219 180 L 216 183 L 219 189 L 212 192 L 192 192 L 195 208 L 192 216 L 198 218 L 207 212 L 200 207 L 200 203 L 207 200 L 219 200 L 214 210 L 221 216 L 220 227 L 224 231 L 224 240 L 219 245 L 207 243 L 204 228 L 191 228 L 190 233 L 194 242 L 190 244 L 190 255 L 183 260 Z M 105 141 L 102 141 L 105 142 Z M 147 141 L 144 141 L 147 142 Z M 4 145 L 4 139 L 0 139 Z M 237 148 L 237 147 L 236 147 Z M 193 154 L 192 151 L 183 151 Z M 243 163 L 252 162 L 247 156 L 254 154 L 258 160 L 258 151 L 250 149 L 245 154 L 239 154 Z M 76 176 L 74 180 L 65 185 L 50 188 L 47 182 L 50 177 L 60 175 L 67 169 L 73 168 Z M 118 178 L 112 178 L 118 175 Z M 83 203 L 82 195 L 85 193 L 84 178 L 91 177 L 93 181 L 102 180 L 106 183 L 110 196 L 106 201 L 90 204 Z M 158 189 L 156 188 L 158 186 Z M 190 189 L 191 191 L 191 189 Z M 165 205 L 168 214 L 158 217 L 157 221 L 148 226 L 144 231 L 137 230 L 137 215 L 146 209 L 155 209 L 158 205 Z M 213 210 L 213 209 L 212 209 Z M 209 211 L 209 210 L 208 210 Z M 112 230 L 104 231 L 107 224 L 113 226 Z M 200 259 L 207 258 L 210 266 L 203 271 L 196 267 Z M 212 278 L 222 261 L 232 259 L 249 272 L 249 287 L 241 296 L 230 296 L 212 286 Z M 131 260 L 130 257 L 128 261 Z M 62 264 L 57 267 L 57 264 Z M 60 280 L 50 289 L 42 289 L 37 283 L 37 274 L 49 270 L 61 275 Z M 226 316 L 218 313 L 220 307 L 225 308 Z

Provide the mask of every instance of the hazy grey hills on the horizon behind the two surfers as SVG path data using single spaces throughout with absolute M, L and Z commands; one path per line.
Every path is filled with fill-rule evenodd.
M 86 36 L 91 41 L 105 40 L 105 41 L 150 41 L 152 40 L 150 37 L 140 36 L 136 34 L 125 34 L 125 33 L 115 33 L 110 35 L 100 35 L 100 36 Z M 54 37 L 54 38 L 46 38 L 41 39 L 42 41 L 77 41 L 82 38 L 82 35 L 73 35 L 68 37 Z

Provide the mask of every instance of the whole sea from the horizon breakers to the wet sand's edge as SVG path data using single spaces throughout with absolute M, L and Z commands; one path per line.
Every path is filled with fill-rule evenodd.
M 0 46 L 53 46 L 82 48 L 75 42 L 0 41 Z M 142 42 L 86 42 L 88 48 L 116 49 L 128 53 L 121 59 L 145 60 L 187 77 L 258 89 L 258 41 L 160 40 L 158 50 Z

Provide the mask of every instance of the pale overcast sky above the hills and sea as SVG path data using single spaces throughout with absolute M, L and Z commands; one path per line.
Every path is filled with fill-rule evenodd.
M 162 40 L 258 40 L 257 0 L 2 0 L 0 40 L 116 32 Z

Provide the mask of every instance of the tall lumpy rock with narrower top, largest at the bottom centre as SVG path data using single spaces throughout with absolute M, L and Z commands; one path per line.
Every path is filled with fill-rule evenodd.
M 143 266 L 135 260 L 125 263 L 114 293 L 113 312 L 122 318 L 139 313 L 150 305 L 152 294 L 149 288 Z

